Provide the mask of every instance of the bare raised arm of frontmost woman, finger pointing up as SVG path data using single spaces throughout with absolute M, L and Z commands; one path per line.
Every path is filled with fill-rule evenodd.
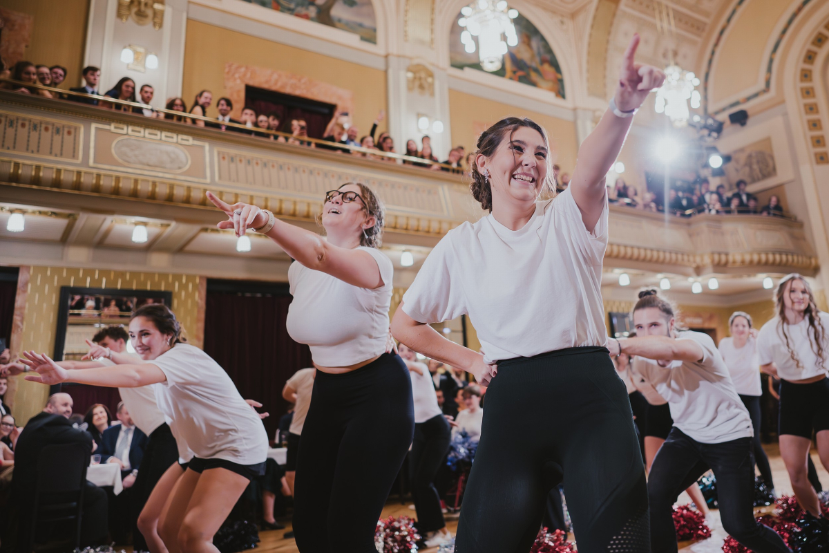
M 665 82 L 662 70 L 633 62 L 638 46 L 639 35 L 634 34 L 624 53 L 618 87 L 613 96 L 617 109 L 623 112 L 638 109 L 651 90 Z M 632 121 L 632 117 L 618 117 L 608 108 L 579 148 L 579 158 L 570 180 L 570 193 L 579 206 L 584 226 L 590 232 L 599 222 L 604 208 L 604 177 L 622 151 Z

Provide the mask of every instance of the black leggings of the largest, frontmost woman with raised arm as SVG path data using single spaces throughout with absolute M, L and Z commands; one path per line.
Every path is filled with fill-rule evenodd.
M 456 553 L 526 553 L 564 482 L 579 553 L 645 553 L 645 467 L 604 347 L 501 361 L 487 390 Z

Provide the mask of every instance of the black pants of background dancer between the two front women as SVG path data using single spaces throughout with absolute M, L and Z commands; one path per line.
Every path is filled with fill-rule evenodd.
M 421 532 L 440 530 L 446 526 L 434 477 L 449 450 L 450 437 L 449 423 L 444 415 L 414 424 L 409 474 L 417 528 Z

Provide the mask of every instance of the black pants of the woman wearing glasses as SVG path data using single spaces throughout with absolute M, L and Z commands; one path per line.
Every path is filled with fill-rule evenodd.
M 299 439 L 293 532 L 302 553 L 376 553 L 374 532 L 414 434 L 409 370 L 396 354 L 317 371 Z

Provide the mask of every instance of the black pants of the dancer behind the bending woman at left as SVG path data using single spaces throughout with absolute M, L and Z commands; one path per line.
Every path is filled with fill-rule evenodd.
M 132 496 L 132 517 L 133 528 L 133 551 L 147 551 L 147 541 L 138 531 L 138 515 L 147 503 L 150 493 L 161 479 L 162 474 L 170 468 L 172 463 L 178 461 L 178 447 L 172 430 L 167 424 L 162 424 L 149 435 L 147 448 L 144 449 L 144 456 L 141 459 L 141 466 L 138 467 L 138 476 L 130 490 Z

